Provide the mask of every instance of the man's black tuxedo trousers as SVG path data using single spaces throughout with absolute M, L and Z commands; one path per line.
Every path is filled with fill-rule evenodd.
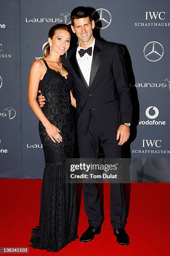
M 100 127 L 97 126 L 95 117 L 91 116 L 87 134 L 79 137 L 80 158 L 97 158 L 100 144 L 102 145 L 105 158 L 121 158 L 122 146 L 118 146 L 116 133 L 117 131 L 110 131 L 108 133 L 100 132 Z M 97 184 L 84 183 L 83 197 L 88 223 L 97 227 L 102 223 Z M 124 183 L 110 183 L 110 217 L 113 228 L 123 228 L 125 226 L 126 206 Z

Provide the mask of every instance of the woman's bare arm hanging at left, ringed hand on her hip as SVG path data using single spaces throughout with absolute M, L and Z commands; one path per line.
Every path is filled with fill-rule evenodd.
M 29 85 L 28 85 L 28 103 L 30 107 L 32 108 L 33 112 L 39 118 L 41 123 L 44 125 L 47 134 L 50 136 L 52 141 L 55 142 L 62 141 L 62 137 L 59 136 L 59 138 L 55 138 L 55 136 L 60 133 L 60 130 L 55 127 L 55 125 L 52 125 L 50 121 L 46 118 L 44 113 L 42 112 L 39 104 L 37 103 L 37 91 L 38 91 L 38 86 L 40 82 L 40 78 L 42 76 L 43 72 L 43 67 L 40 62 L 40 60 L 36 60 L 33 62 L 31 69 L 30 69 L 30 77 L 29 77 Z

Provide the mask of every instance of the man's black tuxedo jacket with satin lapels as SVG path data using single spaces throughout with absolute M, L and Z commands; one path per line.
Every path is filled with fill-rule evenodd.
M 101 133 L 115 131 L 132 122 L 132 103 L 125 62 L 120 46 L 95 39 L 90 84 L 87 85 L 76 59 L 77 47 L 62 58 L 74 77 L 78 137 L 88 131 L 91 114 Z

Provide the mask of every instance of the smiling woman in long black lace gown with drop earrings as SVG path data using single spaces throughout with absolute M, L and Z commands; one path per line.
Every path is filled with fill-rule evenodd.
M 73 78 L 62 66 L 60 55 L 70 46 L 70 28 L 57 24 L 49 31 L 42 60 L 30 69 L 28 102 L 40 119 L 39 132 L 45 155 L 40 198 L 39 225 L 32 229 L 29 246 L 59 251 L 77 238 L 76 184 L 65 183 L 65 158 L 73 157 L 76 107 L 71 88 Z M 36 101 L 37 91 L 46 98 L 43 109 Z

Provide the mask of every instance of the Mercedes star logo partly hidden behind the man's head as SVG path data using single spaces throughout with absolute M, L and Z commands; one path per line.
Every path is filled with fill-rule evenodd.
M 95 27 L 104 29 L 107 28 L 112 22 L 112 15 L 106 9 L 97 9 L 92 14 L 93 20 L 95 20 Z

